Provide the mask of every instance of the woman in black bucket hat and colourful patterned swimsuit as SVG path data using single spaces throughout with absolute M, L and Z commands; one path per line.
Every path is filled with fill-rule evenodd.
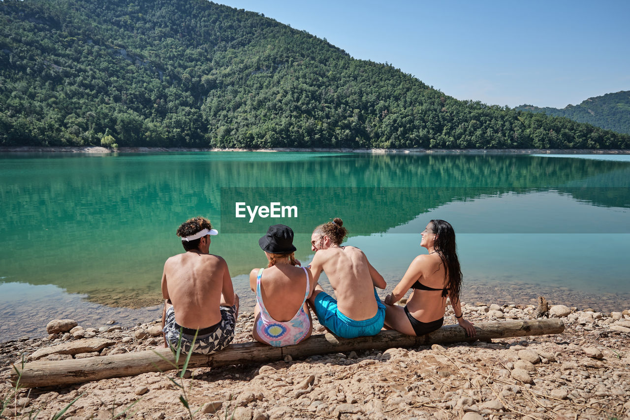
M 306 304 L 315 287 L 311 270 L 300 267 L 294 258 L 297 248 L 289 226 L 269 226 L 258 245 L 265 251 L 268 265 L 249 273 L 249 287 L 256 293 L 252 335 L 270 346 L 292 346 L 312 332 Z

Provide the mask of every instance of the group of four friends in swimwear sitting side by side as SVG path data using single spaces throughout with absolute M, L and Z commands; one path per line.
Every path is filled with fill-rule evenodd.
M 177 230 L 186 252 L 164 264 L 164 342 L 180 346 L 184 353 L 214 353 L 234 338 L 239 298 L 226 261 L 209 254 L 210 236 L 217 233 L 208 219 L 189 219 Z M 341 245 L 347 233 L 340 218 L 317 226 L 311 236 L 315 256 L 302 267 L 294 257 L 291 228 L 269 227 L 258 240 L 268 265 L 249 274 L 249 286 L 256 293 L 254 339 L 277 347 L 304 341 L 312 332 L 311 310 L 319 324 L 343 338 L 375 335 L 382 329 L 424 335 L 442 327 L 447 297 L 459 325 L 468 336 L 475 335 L 473 323 L 462 316 L 462 273 L 449 223 L 440 219 L 428 223 L 420 242 L 428 254 L 411 262 L 383 302 L 376 291 L 387 286 L 383 276 L 362 250 Z M 334 298 L 318 284 L 322 272 Z M 410 289 L 406 305 L 396 305 Z

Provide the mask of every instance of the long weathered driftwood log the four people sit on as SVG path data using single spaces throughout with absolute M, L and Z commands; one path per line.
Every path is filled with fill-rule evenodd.
M 381 331 L 372 337 L 341 339 L 333 334 L 312 335 L 306 341 L 287 347 L 265 346 L 258 342 L 230 344 L 215 354 L 193 354 L 189 368 L 244 365 L 278 361 L 286 356 L 293 359 L 315 354 L 389 349 L 392 347 L 418 347 L 431 344 L 524 337 L 528 335 L 558 334 L 563 332 L 561 319 L 499 321 L 475 324 L 477 331 L 473 339 L 466 337 L 459 325 L 447 325 L 427 335 L 414 337 L 396 331 Z M 180 356 L 180 365 L 185 356 Z M 139 375 L 152 371 L 173 370 L 175 357 L 170 349 L 146 350 L 134 353 L 96 356 L 84 359 L 59 361 L 34 361 L 24 366 L 15 366 L 20 371 L 20 385 L 26 388 L 70 385 L 107 378 Z M 11 376 L 13 382 L 18 374 Z

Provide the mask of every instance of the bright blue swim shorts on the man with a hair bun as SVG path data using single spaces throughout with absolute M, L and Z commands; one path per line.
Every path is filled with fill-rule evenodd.
M 335 298 L 325 292 L 319 292 L 315 296 L 313 310 L 319 319 L 319 324 L 324 325 L 330 332 L 342 338 L 365 337 L 366 335 L 379 334 L 385 320 L 385 305 L 381 303 L 379 295 L 374 288 L 374 297 L 378 309 L 376 315 L 363 321 L 355 321 L 343 315 L 337 309 Z

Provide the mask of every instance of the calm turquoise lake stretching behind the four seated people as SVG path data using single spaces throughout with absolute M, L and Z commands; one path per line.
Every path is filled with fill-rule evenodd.
M 464 301 L 630 308 L 629 155 L 6 154 L 0 180 L 2 341 L 43 335 L 61 316 L 159 317 L 164 260 L 183 252 L 176 228 L 198 215 L 219 230 L 210 252 L 227 260 L 244 310 L 266 228 L 292 226 L 307 263 L 312 228 L 334 217 L 388 291 L 426 252 L 420 231 L 445 219 Z M 297 217 L 249 223 L 234 202 L 280 202 Z

